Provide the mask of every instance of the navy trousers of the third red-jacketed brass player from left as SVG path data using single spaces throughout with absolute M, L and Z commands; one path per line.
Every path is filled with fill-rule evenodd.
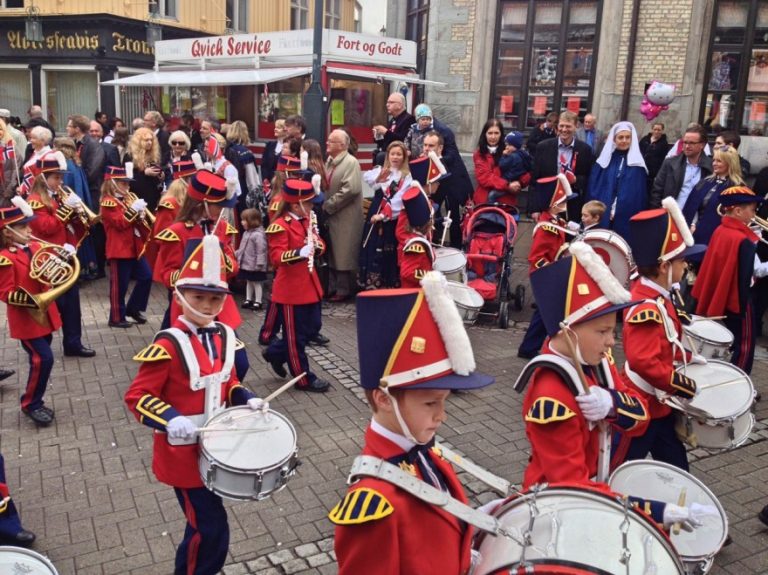
M 126 309 L 129 314 L 146 311 L 152 289 L 152 270 L 147 260 L 144 257 L 110 258 L 109 266 L 109 321 L 125 321 Z M 136 285 L 126 306 L 125 295 L 132 279 Z

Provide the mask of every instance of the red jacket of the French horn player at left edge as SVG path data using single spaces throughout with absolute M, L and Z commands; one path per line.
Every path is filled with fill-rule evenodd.
M 32 256 L 40 249 L 40 244 L 30 242 L 32 255 L 17 246 L 0 251 L 0 300 L 8 304 L 8 327 L 14 339 L 34 339 L 53 333 L 61 327 L 61 317 L 56 303 L 52 302 L 46 310 L 45 325 L 41 325 L 30 315 L 37 305 L 30 296 L 48 291 L 49 287 L 29 276 Z

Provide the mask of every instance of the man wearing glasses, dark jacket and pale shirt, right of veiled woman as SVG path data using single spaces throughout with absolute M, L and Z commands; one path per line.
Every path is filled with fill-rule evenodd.
M 683 134 L 682 153 L 667 158 L 661 165 L 651 190 L 650 207 L 660 208 L 661 200 L 672 196 L 682 209 L 694 186 L 712 173 L 712 158 L 704 153 L 707 133 L 698 124 Z

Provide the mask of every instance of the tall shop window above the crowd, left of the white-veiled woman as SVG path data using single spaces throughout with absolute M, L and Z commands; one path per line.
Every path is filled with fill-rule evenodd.
M 589 111 L 601 5 L 502 0 L 491 97 L 507 128 L 533 128 L 552 110 Z

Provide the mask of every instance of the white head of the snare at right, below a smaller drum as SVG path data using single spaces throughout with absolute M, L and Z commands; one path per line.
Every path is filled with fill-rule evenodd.
M 706 365 L 688 364 L 678 371 L 696 380 L 698 391 L 689 405 L 709 413 L 712 419 L 741 415 L 754 401 L 752 380 L 733 364 L 710 359 Z

